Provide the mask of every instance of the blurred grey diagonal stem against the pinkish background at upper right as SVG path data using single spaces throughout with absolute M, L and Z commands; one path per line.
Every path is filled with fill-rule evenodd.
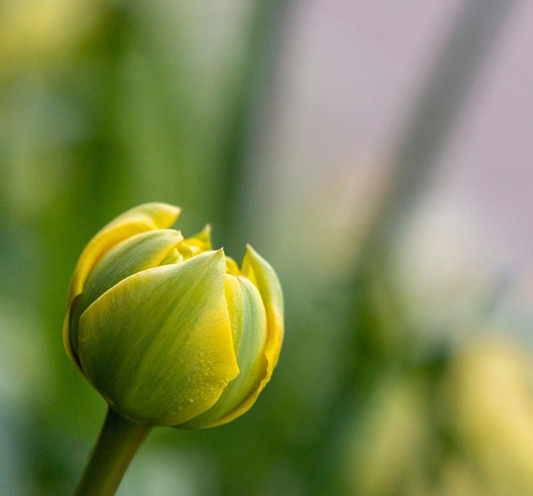
M 369 233 L 358 265 L 383 254 L 384 244 L 402 226 L 434 176 L 452 126 L 473 88 L 480 66 L 516 0 L 467 0 L 448 42 L 414 102 L 411 118 L 392 154 L 391 189 Z

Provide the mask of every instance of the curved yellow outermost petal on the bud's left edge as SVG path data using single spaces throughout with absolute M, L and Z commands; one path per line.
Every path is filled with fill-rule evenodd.
M 171 226 L 178 218 L 180 211 L 181 209 L 178 206 L 165 203 L 146 203 L 136 206 L 109 222 L 87 244 L 85 250 L 80 255 L 80 259 L 77 261 L 72 279 L 70 280 L 67 315 L 63 324 L 63 344 L 72 362 L 77 364 L 70 346 L 68 331 L 72 299 L 82 292 L 87 275 L 89 275 L 95 263 L 97 263 L 98 259 L 109 248 L 112 248 L 130 236 Z

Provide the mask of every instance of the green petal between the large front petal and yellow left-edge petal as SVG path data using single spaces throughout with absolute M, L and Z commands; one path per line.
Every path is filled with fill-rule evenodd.
M 89 305 L 118 282 L 141 270 L 157 267 L 183 241 L 179 231 L 157 229 L 136 234 L 109 249 L 85 280 L 82 294 L 72 302 L 70 343 L 77 355 L 77 322 Z

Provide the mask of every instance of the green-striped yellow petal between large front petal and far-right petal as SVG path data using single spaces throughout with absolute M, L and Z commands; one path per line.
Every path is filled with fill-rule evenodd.
M 266 315 L 261 295 L 245 277 L 232 275 L 226 275 L 225 294 L 240 373 L 207 412 L 178 426 L 183 429 L 217 426 L 238 417 L 252 406 L 248 400 L 257 397 L 254 393 L 266 376 Z M 245 403 L 249 406 L 242 409 Z

